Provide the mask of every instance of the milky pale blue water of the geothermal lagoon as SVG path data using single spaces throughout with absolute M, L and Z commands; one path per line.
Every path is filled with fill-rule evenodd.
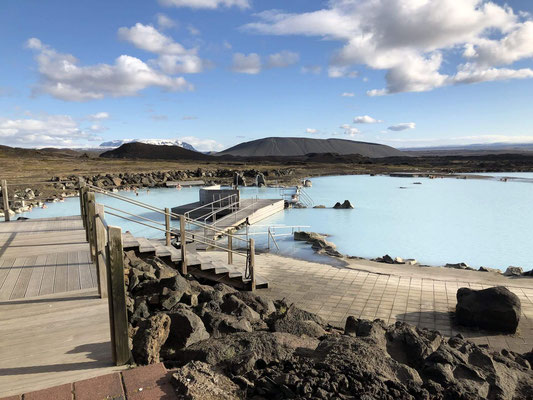
M 514 176 L 515 174 L 513 174 Z M 466 262 L 473 267 L 505 269 L 509 265 L 533 267 L 533 183 L 477 179 L 392 178 L 388 176 L 336 176 L 313 178 L 306 192 L 315 204 L 332 207 L 350 200 L 353 210 L 290 209 L 260 222 L 261 225 L 308 225 L 330 235 L 341 253 L 374 258 L 384 254 L 416 258 L 428 265 Z M 414 184 L 420 182 L 421 184 Z M 279 189 L 242 188 L 243 197 L 279 198 Z M 174 207 L 198 199 L 198 188 L 143 190 L 120 195 L 154 206 Z M 98 196 L 106 205 L 163 221 L 118 200 Z M 111 210 L 109 210 L 111 211 Z M 25 216 L 38 218 L 79 214 L 79 200 L 49 204 Z M 161 237 L 162 233 L 108 215 L 112 225 L 135 235 Z M 263 226 L 252 231 L 265 231 Z M 276 232 L 290 232 L 277 228 Z M 256 236 L 259 248 L 266 235 Z M 314 258 L 313 252 L 291 237 L 279 237 L 282 254 Z

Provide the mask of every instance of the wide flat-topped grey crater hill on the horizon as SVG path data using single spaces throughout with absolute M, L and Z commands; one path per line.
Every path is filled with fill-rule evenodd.
M 236 157 L 294 157 L 315 153 L 358 154 L 369 158 L 406 157 L 404 152 L 377 143 L 346 139 L 308 139 L 269 137 L 252 140 L 217 153 Z

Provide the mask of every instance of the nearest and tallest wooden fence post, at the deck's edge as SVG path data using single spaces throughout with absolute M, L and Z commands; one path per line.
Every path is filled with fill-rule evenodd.
M 130 361 L 128 344 L 128 316 L 126 311 L 126 287 L 124 284 L 124 254 L 122 229 L 110 226 L 107 229 L 108 287 L 110 304 L 111 345 L 116 365 Z

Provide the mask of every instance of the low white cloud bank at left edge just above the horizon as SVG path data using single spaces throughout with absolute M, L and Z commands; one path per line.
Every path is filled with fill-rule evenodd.
M 105 128 L 92 125 L 87 130 L 68 115 L 43 115 L 24 119 L 0 118 L 0 142 L 21 147 L 72 146 L 100 140 L 95 133 Z

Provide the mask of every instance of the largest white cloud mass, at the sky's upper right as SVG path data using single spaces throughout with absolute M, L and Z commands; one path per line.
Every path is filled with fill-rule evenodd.
M 370 90 L 370 96 L 533 75 L 531 68 L 511 67 L 533 57 L 531 15 L 516 14 L 507 5 L 488 0 L 330 0 L 327 4 L 300 14 L 264 11 L 256 14 L 258 22 L 244 28 L 342 42 L 329 75 L 345 76 L 355 65 L 385 70 L 386 87 Z M 457 48 L 465 49 L 464 61 L 455 66 L 456 72 L 444 73 L 442 66 L 454 60 Z

